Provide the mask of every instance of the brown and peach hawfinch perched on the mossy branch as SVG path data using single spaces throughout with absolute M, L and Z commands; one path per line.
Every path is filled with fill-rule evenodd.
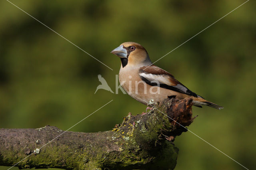
M 119 82 L 124 91 L 144 105 L 158 103 L 167 98 L 192 98 L 194 106 L 204 105 L 215 109 L 222 106 L 207 101 L 190 91 L 174 76 L 164 69 L 153 65 L 148 52 L 142 45 L 135 42 L 124 42 L 111 51 L 121 59 Z

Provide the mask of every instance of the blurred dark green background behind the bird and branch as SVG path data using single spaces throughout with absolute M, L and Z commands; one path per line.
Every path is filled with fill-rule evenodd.
M 98 90 L 98 74 L 115 91 L 120 59 L 110 51 L 138 42 L 156 61 L 245 1 L 43 1 L 14 4 L 78 45 L 102 65 L 8 1 L 0 2 L 0 128 L 110 130 L 145 111 L 128 95 Z M 256 166 L 256 2 L 249 1 L 155 63 L 190 90 L 224 106 L 193 108 L 189 129 L 249 169 Z M 242 166 L 190 132 L 174 141 L 176 170 Z M 7 167 L 0 167 L 7 169 Z M 18 169 L 18 168 L 13 168 Z

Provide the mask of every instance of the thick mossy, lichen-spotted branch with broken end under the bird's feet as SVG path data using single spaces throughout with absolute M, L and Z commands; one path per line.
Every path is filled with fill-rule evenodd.
M 129 113 L 121 124 L 105 132 L 64 132 L 49 125 L 38 129 L 2 128 L 0 165 L 13 166 L 25 158 L 16 166 L 99 170 L 174 169 L 178 148 L 172 142 L 176 136 L 187 131 L 184 127 L 194 119 L 192 99 L 166 99 L 154 106 L 157 109 L 146 114 Z

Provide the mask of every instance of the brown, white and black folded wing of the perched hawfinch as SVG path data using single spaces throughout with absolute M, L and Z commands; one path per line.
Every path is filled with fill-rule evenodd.
M 140 78 L 148 85 L 159 85 L 165 89 L 170 89 L 194 97 L 200 97 L 176 80 L 173 75 L 155 65 L 151 65 L 149 67 L 140 67 L 139 75 Z

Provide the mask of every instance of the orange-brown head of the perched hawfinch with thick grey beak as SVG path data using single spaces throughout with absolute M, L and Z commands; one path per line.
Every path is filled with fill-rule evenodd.
M 125 42 L 111 51 L 112 54 L 121 58 L 122 67 L 147 66 L 152 64 L 148 52 L 142 45 L 135 42 Z

